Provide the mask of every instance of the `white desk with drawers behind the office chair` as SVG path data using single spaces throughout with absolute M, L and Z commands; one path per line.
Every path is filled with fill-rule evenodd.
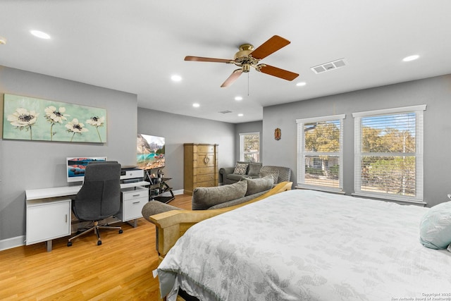
M 121 184 L 121 196 L 123 196 L 124 192 L 128 193 L 134 188 L 140 190 L 140 202 L 133 202 L 132 204 L 144 206 L 144 202 L 149 200 L 149 190 L 145 190 L 147 191 L 147 197 L 144 198 L 142 186 L 147 185 L 150 185 L 150 183 L 146 181 L 123 183 Z M 53 239 L 72 234 L 70 223 L 72 199 L 70 197 L 76 195 L 81 187 L 81 185 L 74 185 L 25 190 L 27 210 L 26 245 L 46 242 L 47 252 L 50 252 Z M 126 200 L 128 201 L 129 197 L 126 197 Z M 140 217 L 137 214 L 139 209 L 134 209 L 135 212 L 130 215 L 123 214 L 123 208 L 123 197 L 121 197 L 121 211 L 118 213 L 118 216 L 122 221 L 130 221 L 130 219 Z

